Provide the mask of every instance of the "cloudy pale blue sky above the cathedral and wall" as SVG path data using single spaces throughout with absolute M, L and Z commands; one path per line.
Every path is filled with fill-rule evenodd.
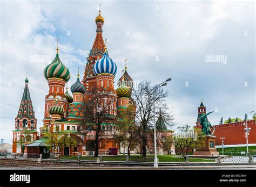
M 103 38 L 116 62 L 116 83 L 127 71 L 136 83 L 164 87 L 178 126 L 194 126 L 203 100 L 211 124 L 244 119 L 255 110 L 254 1 L 1 1 L 0 138 L 11 143 L 28 74 L 38 131 L 48 83 L 44 68 L 56 55 L 83 75 L 96 36 L 99 3 Z M 39 56 L 39 58 L 38 58 Z M 116 85 L 117 88 L 117 85 Z M 69 91 L 70 92 L 70 91 Z M 71 92 L 70 92 L 71 93 Z

